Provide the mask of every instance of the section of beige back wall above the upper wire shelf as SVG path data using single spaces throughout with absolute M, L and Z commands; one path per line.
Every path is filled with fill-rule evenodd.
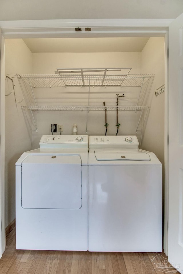
M 56 68 L 99 67 L 132 67 L 130 73 L 138 73 L 140 59 L 140 52 L 33 53 L 33 74 L 54 74 Z

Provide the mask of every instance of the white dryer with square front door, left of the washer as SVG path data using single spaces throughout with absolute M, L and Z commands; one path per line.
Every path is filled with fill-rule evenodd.
M 16 248 L 88 249 L 88 136 L 42 136 L 16 162 Z

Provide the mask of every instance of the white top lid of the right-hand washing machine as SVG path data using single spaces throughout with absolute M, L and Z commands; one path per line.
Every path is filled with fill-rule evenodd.
M 112 160 L 131 160 L 131 161 L 150 161 L 150 156 L 147 152 L 138 149 L 94 149 L 95 157 L 98 161 Z

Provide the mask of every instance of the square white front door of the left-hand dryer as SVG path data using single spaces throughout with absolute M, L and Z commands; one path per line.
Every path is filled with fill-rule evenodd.
M 80 209 L 81 158 L 29 155 L 22 163 L 21 199 L 23 208 Z

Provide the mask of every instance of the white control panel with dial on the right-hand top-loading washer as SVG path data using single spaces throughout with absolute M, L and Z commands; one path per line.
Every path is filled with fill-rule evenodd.
M 137 136 L 89 136 L 89 148 L 138 148 Z

